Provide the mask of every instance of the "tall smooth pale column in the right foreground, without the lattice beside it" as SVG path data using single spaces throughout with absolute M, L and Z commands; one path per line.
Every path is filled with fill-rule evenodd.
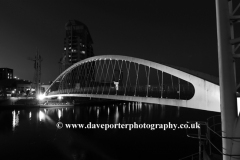
M 234 59 L 230 44 L 230 23 L 228 0 L 216 0 L 218 63 L 220 83 L 220 106 L 222 118 L 222 136 L 240 137 L 235 134 L 237 115 L 236 82 Z M 240 143 L 240 142 L 238 142 Z M 236 160 L 229 155 L 240 155 L 240 148 L 233 147 L 231 139 L 223 138 L 223 160 Z M 237 145 L 239 146 L 239 145 Z

